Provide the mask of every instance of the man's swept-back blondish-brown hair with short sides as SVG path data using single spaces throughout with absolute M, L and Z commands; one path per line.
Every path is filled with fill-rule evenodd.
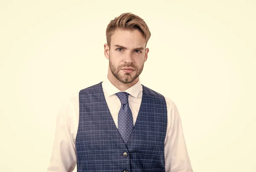
M 114 20 L 111 20 L 107 26 L 106 37 L 107 37 L 107 44 L 109 47 L 111 43 L 111 36 L 116 31 L 116 29 L 123 29 L 123 30 L 137 29 L 145 37 L 146 45 L 151 36 L 148 26 L 142 18 L 132 13 L 123 13 L 119 17 L 115 17 Z

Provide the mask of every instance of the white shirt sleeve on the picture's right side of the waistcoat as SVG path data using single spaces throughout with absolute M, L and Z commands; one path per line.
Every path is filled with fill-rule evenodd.
M 167 111 L 168 126 L 165 142 L 166 172 L 193 172 L 183 135 L 180 115 L 174 102 L 169 101 Z

